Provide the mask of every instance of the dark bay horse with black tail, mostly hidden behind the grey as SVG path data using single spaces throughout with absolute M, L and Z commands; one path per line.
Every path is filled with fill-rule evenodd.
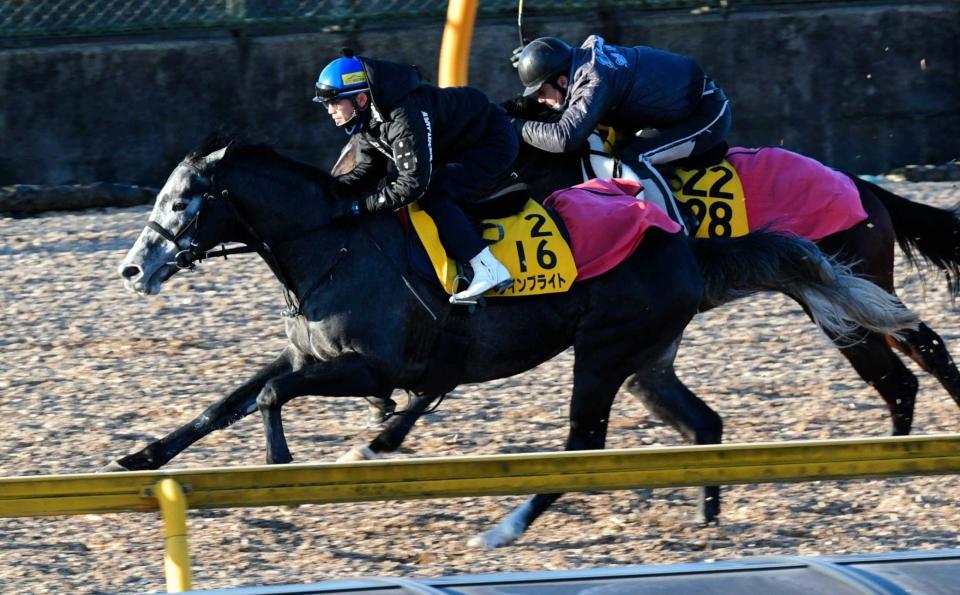
M 576 155 L 548 154 L 524 145 L 518 163 L 531 194 L 543 198 L 580 181 L 582 170 L 576 170 L 579 161 L 580 157 Z M 856 176 L 849 177 L 857 187 L 867 218 L 818 240 L 820 249 L 840 262 L 850 263 L 854 273 L 896 295 L 894 247 L 899 244 L 908 262 L 917 268 L 921 261 L 932 264 L 944 273 L 951 295 L 960 294 L 960 216 L 957 212 L 912 202 Z M 830 331 L 827 335 L 860 377 L 880 393 L 890 411 L 894 435 L 910 433 L 918 390 L 916 377 L 894 350 L 907 355 L 924 371 L 935 376 L 960 405 L 960 371 L 946 343 L 925 323 L 921 322 L 916 329 L 898 336 L 861 332 L 861 340 L 854 343 L 838 341 Z M 651 383 L 642 384 L 649 387 Z M 697 443 L 700 443 L 702 433 L 713 436 L 720 431 L 716 426 L 703 427 L 702 422 L 694 421 L 689 415 L 665 410 L 659 399 L 646 394 L 649 391 L 641 386 L 637 386 L 635 392 L 644 393 L 642 398 L 653 411 L 659 411 L 664 420 Z M 687 409 L 702 412 L 701 405 L 691 403 Z M 698 413 L 696 417 L 711 416 Z

